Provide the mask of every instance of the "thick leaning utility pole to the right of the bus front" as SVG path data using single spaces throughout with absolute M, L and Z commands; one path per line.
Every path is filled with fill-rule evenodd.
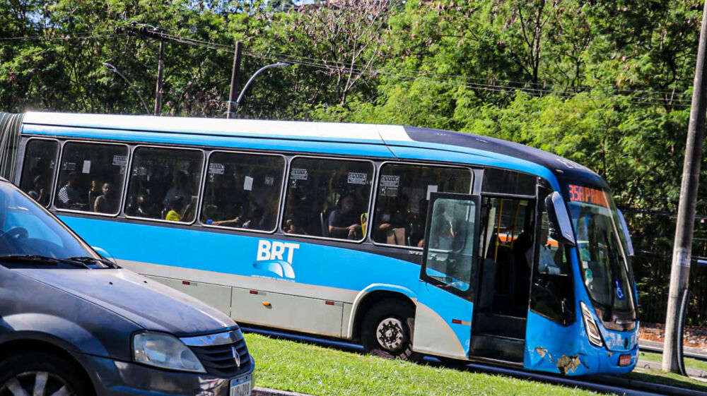
M 707 50 L 707 1 L 702 11 L 702 26 L 700 42 L 697 50 L 697 65 L 692 91 L 692 107 L 690 121 L 687 127 L 687 144 L 685 146 L 685 162 L 682 167 L 682 185 L 680 186 L 680 203 L 677 210 L 677 226 L 675 227 L 675 243 L 672 251 L 672 268 L 670 270 L 670 291 L 667 300 L 667 316 L 665 317 L 665 344 L 663 346 L 663 371 L 679 372 L 677 359 L 678 306 L 679 298 L 688 287 L 690 278 L 690 260 L 692 253 L 692 236 L 695 227 L 695 205 L 697 202 L 697 186 L 699 185 L 700 162 L 702 160 L 702 143 L 705 130 L 705 112 L 707 107 L 707 69 L 705 52 Z

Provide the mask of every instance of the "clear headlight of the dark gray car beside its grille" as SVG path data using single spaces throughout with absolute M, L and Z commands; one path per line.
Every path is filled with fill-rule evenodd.
M 159 368 L 206 373 L 197 356 L 184 342 L 163 332 L 146 331 L 134 335 L 133 359 Z

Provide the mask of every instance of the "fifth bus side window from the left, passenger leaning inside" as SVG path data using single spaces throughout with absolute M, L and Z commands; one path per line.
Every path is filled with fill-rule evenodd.
M 282 229 L 360 241 L 371 186 L 373 164 L 368 161 L 296 157 L 290 165 Z

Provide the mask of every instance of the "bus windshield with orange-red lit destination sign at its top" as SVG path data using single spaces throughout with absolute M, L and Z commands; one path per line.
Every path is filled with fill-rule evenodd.
M 631 267 L 611 196 L 585 186 L 571 184 L 568 189 L 581 273 L 591 299 L 610 311 L 633 311 Z

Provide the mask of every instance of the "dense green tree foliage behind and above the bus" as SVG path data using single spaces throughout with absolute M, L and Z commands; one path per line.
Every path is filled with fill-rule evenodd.
M 694 0 L 2 1 L 3 111 L 144 113 L 102 66 L 152 107 L 159 43 L 115 32 L 136 23 L 173 37 L 163 114 L 223 117 L 241 41 L 236 93 L 266 64 L 291 66 L 259 75 L 240 116 L 479 133 L 590 167 L 626 208 L 641 293 L 662 292 L 674 219 L 631 210 L 677 210 Z M 707 227 L 696 225 L 695 253 L 707 256 Z

